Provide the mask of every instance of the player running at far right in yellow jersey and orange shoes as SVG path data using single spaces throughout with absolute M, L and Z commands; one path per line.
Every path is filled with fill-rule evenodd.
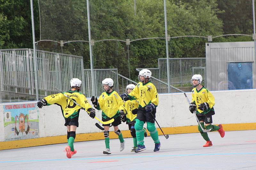
M 195 74 L 192 76 L 191 84 L 195 88 L 192 89 L 192 103 L 189 105 L 189 110 L 191 113 L 196 111 L 196 116 L 204 129 L 218 131 L 221 138 L 223 138 L 225 136 L 225 131 L 223 130 L 222 125 L 212 125 L 212 115 L 215 114 L 213 109 L 215 104 L 214 96 L 212 96 L 212 93 L 208 89 L 201 85 L 202 80 L 203 78 L 200 74 Z M 199 125 L 198 130 L 200 131 L 204 140 L 206 140 L 206 144 L 204 144 L 203 147 L 212 146 L 212 141 L 209 139 L 207 132 L 203 132 Z

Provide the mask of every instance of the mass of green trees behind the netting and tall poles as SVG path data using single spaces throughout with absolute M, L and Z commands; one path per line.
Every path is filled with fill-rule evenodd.
M 48 9 L 51 4 L 52 11 L 56 11 L 55 13 L 49 10 L 41 11 L 41 21 L 47 21 L 56 28 L 47 34 L 48 37 L 42 37 L 42 39 L 54 38 L 56 41 L 63 40 L 64 42 L 68 40 L 89 41 L 86 1 L 54 2 L 39 0 L 41 8 Z M 158 58 L 166 58 L 166 44 L 163 39 L 165 38 L 163 1 L 137 0 L 136 8 L 134 8 L 134 0 L 91 0 L 89 2 L 91 34 L 92 39 L 96 41 L 92 46 L 94 68 L 118 68 L 120 74 L 129 77 L 130 67 L 131 78 L 137 81 L 138 72 L 135 68 L 157 67 Z M 204 57 L 207 39 L 202 37 L 207 37 L 207 35 L 214 37 L 228 32 L 252 32 L 252 29 L 245 30 L 252 25 L 252 19 L 250 19 L 252 13 L 237 13 L 240 8 L 251 10 L 249 9 L 251 4 L 244 2 L 239 0 L 167 0 L 167 31 L 171 37 L 168 42 L 169 57 Z M 33 3 L 36 41 L 38 41 L 39 9 L 37 0 Z M 73 15 L 74 13 L 77 15 Z M 225 15 L 230 15 L 229 20 L 224 18 Z M 240 16 L 241 20 L 237 21 L 236 16 Z M 0 49 L 33 47 L 28 0 L 0 0 L 0 32 Z M 175 38 L 180 35 L 201 37 Z M 116 39 L 116 37 L 120 37 L 122 41 L 100 41 Z M 132 41 L 128 50 L 125 39 L 142 40 Z M 213 42 L 251 40 L 249 36 L 227 36 L 214 38 Z M 56 42 L 41 41 L 37 47 L 40 50 L 83 56 L 84 68 L 90 68 L 88 42 L 70 42 L 60 47 L 60 44 Z

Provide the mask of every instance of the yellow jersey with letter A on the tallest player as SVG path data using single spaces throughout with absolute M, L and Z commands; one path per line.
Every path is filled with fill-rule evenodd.
M 147 105 L 153 103 L 157 106 L 159 103 L 156 87 L 151 81 L 148 81 L 145 84 L 139 82 L 132 92 L 128 94 L 128 99 L 137 99 L 139 101 L 139 108 L 146 107 L 143 101 L 145 101 Z

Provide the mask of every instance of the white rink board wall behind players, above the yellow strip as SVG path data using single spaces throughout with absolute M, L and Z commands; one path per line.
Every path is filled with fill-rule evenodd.
M 215 97 L 216 103 L 214 106 L 216 114 L 213 116 L 213 124 L 256 122 L 256 114 L 254 114 L 256 110 L 256 105 L 254 102 L 256 89 L 212 91 L 212 94 Z M 187 96 L 191 101 L 191 93 L 187 93 Z M 2 129 L 4 127 L 3 105 L 5 104 L 0 104 L 0 113 L 2 113 L 0 114 L 0 127 L 2 127 Z M 38 109 L 38 111 L 40 138 L 67 134 L 66 127 L 64 126 L 65 121 L 62 116 L 60 106 L 45 106 L 42 109 Z M 157 107 L 156 114 L 156 120 L 161 127 L 197 125 L 196 118 L 188 110 L 188 102 L 183 93 L 159 94 L 159 106 Z M 101 119 L 100 111 L 96 112 L 96 117 Z M 84 110 L 81 110 L 79 115 L 79 127 L 77 128 L 76 133 L 101 132 L 94 125 L 96 122 L 98 122 L 96 119 L 92 119 Z M 121 124 L 119 128 L 120 130 L 128 130 L 127 125 L 124 123 Z M 113 128 L 110 130 L 113 130 Z M 0 131 L 0 142 L 2 141 L 4 141 L 4 131 Z

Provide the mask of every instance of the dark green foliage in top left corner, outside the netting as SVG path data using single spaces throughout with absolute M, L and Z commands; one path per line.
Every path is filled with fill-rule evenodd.
M 36 2 L 35 17 L 39 15 Z M 36 18 L 35 25 L 39 28 Z M 0 0 L 0 32 L 0 49 L 33 47 L 30 1 Z M 36 35 L 39 36 L 39 32 Z

